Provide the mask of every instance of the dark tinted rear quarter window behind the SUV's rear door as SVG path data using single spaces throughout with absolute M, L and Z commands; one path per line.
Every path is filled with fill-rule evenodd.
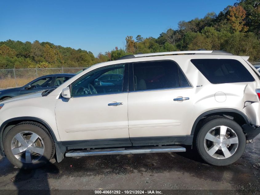
M 252 82 L 254 77 L 235 59 L 191 59 L 191 63 L 210 83 Z

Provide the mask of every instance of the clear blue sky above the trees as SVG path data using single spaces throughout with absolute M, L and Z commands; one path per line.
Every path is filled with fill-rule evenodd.
M 180 20 L 217 14 L 236 0 L 2 1 L 0 41 L 49 41 L 99 52 L 123 47 L 127 35 L 157 38 Z

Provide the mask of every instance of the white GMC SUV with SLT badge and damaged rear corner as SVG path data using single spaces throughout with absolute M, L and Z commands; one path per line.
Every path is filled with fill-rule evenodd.
M 56 89 L 1 102 L 1 154 L 32 169 L 54 154 L 60 162 L 193 145 L 228 165 L 260 131 L 260 75 L 248 58 L 174 51 L 96 64 Z

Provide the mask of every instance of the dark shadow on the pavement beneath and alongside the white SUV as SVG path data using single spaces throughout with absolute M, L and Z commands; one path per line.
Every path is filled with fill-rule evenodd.
M 17 189 L 28 189 L 31 183 L 37 183 L 37 189 L 49 189 L 50 178 L 59 181 L 61 177 L 90 177 L 148 173 L 157 177 L 158 173 L 182 173 L 206 181 L 227 182 L 234 189 L 259 190 L 259 170 L 253 165 L 259 161 L 259 146 L 247 146 L 247 151 L 236 163 L 218 167 L 206 164 L 197 152 L 188 150 L 180 153 L 129 154 L 112 156 L 66 157 L 61 163 L 48 164 L 37 170 L 19 170 L 14 168 L 6 158 L 0 160 L 4 169 L 0 170 L 1 177 L 8 177 Z M 184 179 L 184 178 L 179 178 Z M 61 184 L 63 185 L 63 184 Z

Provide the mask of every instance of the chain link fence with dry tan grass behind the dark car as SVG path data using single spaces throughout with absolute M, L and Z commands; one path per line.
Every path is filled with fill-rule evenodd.
M 0 89 L 9 87 L 21 87 L 30 81 L 52 74 L 77 73 L 82 71 L 83 67 L 77 68 L 27 68 L 27 69 L 0 69 Z

